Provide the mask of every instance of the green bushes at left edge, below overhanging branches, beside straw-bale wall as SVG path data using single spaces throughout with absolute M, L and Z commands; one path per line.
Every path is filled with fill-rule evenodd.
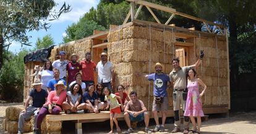
M 6 52 L 7 60 L 0 71 L 1 99 L 11 102 L 20 102 L 23 99 L 24 63 L 23 57 L 28 50 L 23 49 L 17 55 Z

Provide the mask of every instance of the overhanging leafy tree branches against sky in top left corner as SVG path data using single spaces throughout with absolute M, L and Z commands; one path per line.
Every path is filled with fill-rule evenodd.
M 12 41 L 28 44 L 27 31 L 49 28 L 46 22 L 58 19 L 63 13 L 70 11 L 70 6 L 64 3 L 59 11 L 53 10 L 56 3 L 53 0 L 3 0 L 0 5 L 0 69 L 3 65 L 3 52 L 8 51 Z

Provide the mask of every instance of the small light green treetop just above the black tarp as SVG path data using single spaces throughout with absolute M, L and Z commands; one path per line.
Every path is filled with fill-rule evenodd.
M 42 39 L 40 39 L 39 37 L 37 38 L 35 50 L 47 48 L 53 44 L 54 44 L 53 37 L 51 37 L 50 34 L 47 34 L 46 36 L 43 36 Z

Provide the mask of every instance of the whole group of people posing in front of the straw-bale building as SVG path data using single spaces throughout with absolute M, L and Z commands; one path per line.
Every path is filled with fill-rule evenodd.
M 168 111 L 168 86 L 173 85 L 173 108 L 175 128 L 173 133 L 180 132 L 179 109 L 182 105 L 184 110 L 185 130 L 189 133 L 189 117 L 192 121 L 193 132 L 200 133 L 200 117 L 203 116 L 202 103 L 200 97 L 205 92 L 206 85 L 196 77 L 195 67 L 200 65 L 204 53 L 200 53 L 200 59 L 191 66 L 179 66 L 179 59 L 173 59 L 173 71 L 167 76 L 163 73 L 161 63 L 156 63 L 156 73 L 145 75 L 149 81 L 154 81 L 153 88 L 153 116 L 156 122 L 154 132 L 163 132 L 166 113 Z M 117 132 L 121 128 L 117 122 L 117 115 L 124 111 L 124 119 L 129 127 L 127 132 L 133 132 L 130 121 L 145 121 L 145 132 L 151 133 L 148 128 L 149 116 L 147 108 L 141 100 L 137 98 L 137 93 L 132 91 L 127 95 L 125 89 L 129 86 L 119 85 L 117 92 L 113 93 L 114 84 L 114 66 L 108 61 L 107 53 L 100 55 L 101 61 L 96 65 L 92 61 L 90 52 L 85 53 L 80 63 L 77 61 L 79 55 L 72 54 L 69 60 L 66 60 L 66 53 L 59 52 L 59 60 L 46 61 L 43 70 L 39 73 L 40 80 L 36 80 L 32 85 L 25 102 L 25 109 L 19 117 L 19 133 L 23 133 L 25 120 L 34 116 L 34 131 L 41 132 L 41 122 L 46 114 L 59 114 L 62 110 L 66 114 L 85 113 L 109 110 L 110 127 L 113 133 L 113 126 L 116 125 Z M 94 71 L 98 73 L 98 84 L 94 82 Z M 187 76 L 187 74 L 188 76 Z M 67 82 L 66 82 L 67 80 Z M 169 83 L 169 85 L 168 85 Z M 199 94 L 198 85 L 204 87 L 203 92 Z M 188 92 L 187 92 L 188 89 Z M 30 100 L 33 103 L 30 105 Z M 187 101 L 186 101 L 187 100 Z M 162 114 L 162 124 L 158 121 L 158 111 Z M 198 128 L 195 125 L 197 117 Z

